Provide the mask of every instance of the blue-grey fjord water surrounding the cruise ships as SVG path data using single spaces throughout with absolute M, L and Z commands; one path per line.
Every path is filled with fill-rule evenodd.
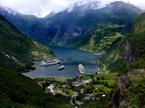
M 57 59 L 62 61 L 65 69 L 58 71 L 59 65 L 52 65 L 47 67 L 40 66 L 40 63 L 35 63 L 36 70 L 25 73 L 24 75 L 30 78 L 46 78 L 46 77 L 62 77 L 74 78 L 80 76 L 78 65 L 83 64 L 85 67 L 85 74 L 95 74 L 97 71 L 96 59 L 94 53 L 84 52 L 73 48 L 51 47 Z

